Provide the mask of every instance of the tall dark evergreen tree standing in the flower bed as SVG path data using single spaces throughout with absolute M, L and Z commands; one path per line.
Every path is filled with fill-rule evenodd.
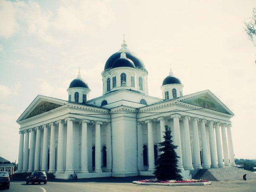
M 182 176 L 180 175 L 181 170 L 178 169 L 179 156 L 175 152 L 177 146 L 172 144 L 173 140 L 170 127 L 167 125 L 164 127 L 164 141 L 159 143 L 159 146 L 162 148 L 158 149 L 158 151 L 163 153 L 156 160 L 158 166 L 154 175 L 158 180 L 182 180 Z

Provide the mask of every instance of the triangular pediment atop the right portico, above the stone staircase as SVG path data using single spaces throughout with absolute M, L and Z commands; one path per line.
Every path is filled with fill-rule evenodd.
M 179 101 L 191 104 L 194 106 L 199 106 L 202 108 L 207 108 L 210 110 L 218 111 L 221 113 L 234 115 L 212 92 L 209 90 L 191 94 L 182 97 Z

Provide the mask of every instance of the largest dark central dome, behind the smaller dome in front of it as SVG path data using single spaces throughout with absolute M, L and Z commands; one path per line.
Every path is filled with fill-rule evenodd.
M 112 56 L 110 56 L 110 58 L 108 58 L 104 70 L 108 69 L 108 68 L 112 68 L 114 62 L 120 58 L 120 54 L 122 53 L 122 51 L 118 51 L 114 54 L 112 54 Z M 139 67 L 139 68 L 143 68 L 145 69 L 144 66 L 144 62 L 142 61 L 142 59 L 134 52 L 128 51 L 128 50 L 124 50 L 124 53 L 126 54 L 126 57 L 130 60 L 132 60 L 132 62 L 134 63 L 135 67 Z

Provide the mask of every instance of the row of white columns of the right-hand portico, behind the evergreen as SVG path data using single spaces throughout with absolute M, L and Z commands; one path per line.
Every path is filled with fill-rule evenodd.
M 230 124 L 206 120 L 204 118 L 182 116 L 180 114 L 171 115 L 170 118 L 173 121 L 172 139 L 174 145 L 178 146 L 176 153 L 180 157 L 178 159 L 178 167 L 180 170 L 235 166 Z M 168 120 L 170 120 L 170 118 L 168 118 Z M 152 131 L 154 120 L 144 121 L 147 124 L 148 131 L 148 171 L 153 171 L 155 168 Z M 158 118 L 157 121 L 160 122 L 160 138 L 162 142 L 166 120 L 164 117 L 161 117 Z M 192 127 L 190 128 L 189 125 Z M 141 123 L 139 128 L 142 128 Z M 192 130 L 192 134 L 190 134 L 190 130 Z M 200 134 L 198 134 L 198 130 L 200 130 Z M 140 134 L 138 134 L 138 136 L 140 136 Z M 184 138 L 183 142 L 181 138 Z M 202 155 L 202 163 L 200 153 Z M 182 154 L 184 154 L 184 156 L 182 156 Z

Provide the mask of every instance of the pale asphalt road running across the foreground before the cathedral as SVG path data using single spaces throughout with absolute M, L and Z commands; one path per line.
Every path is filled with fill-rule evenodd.
M 132 184 L 134 178 L 52 180 L 44 184 L 12 181 L 7 192 L 256 192 L 256 180 L 212 182 L 206 186 L 157 186 Z

